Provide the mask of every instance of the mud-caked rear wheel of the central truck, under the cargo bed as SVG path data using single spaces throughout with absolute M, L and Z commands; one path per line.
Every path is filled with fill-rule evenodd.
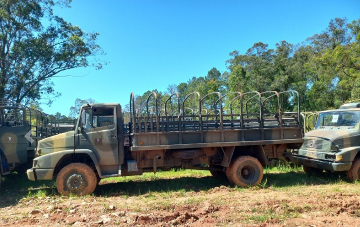
M 259 184 L 264 176 L 263 166 L 252 156 L 240 156 L 229 169 L 231 180 L 238 186 L 247 187 Z

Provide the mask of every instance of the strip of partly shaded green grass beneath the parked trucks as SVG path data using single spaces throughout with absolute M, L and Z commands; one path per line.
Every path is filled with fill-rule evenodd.
M 346 192 L 344 185 L 352 184 L 346 178 L 345 173 L 322 173 L 308 176 L 299 167 L 265 168 L 263 181 L 257 188 L 269 188 L 283 190 L 292 194 L 302 193 L 298 190 L 309 185 L 339 185 L 332 188 L 334 192 Z M 354 184 L 360 185 L 360 182 Z M 208 191 L 224 185 L 227 188 L 235 188 L 237 192 L 253 190 L 230 186 L 227 179 L 212 177 L 209 171 L 181 170 L 158 171 L 144 173 L 141 176 L 113 177 L 103 179 L 97 186 L 94 196 L 143 196 L 144 200 L 151 201 L 157 197 L 172 198 L 185 197 L 188 192 Z M 296 190 L 294 190 L 296 189 Z M 2 179 L 0 189 L 0 201 L 16 201 L 27 197 L 56 196 L 57 189 L 54 181 L 30 181 L 25 174 L 10 174 Z M 304 194 L 303 196 L 309 196 Z M 219 200 L 220 201 L 220 200 Z M 188 200 L 187 203 L 193 203 Z M 11 202 L 10 202 L 11 204 Z M 0 202 L 0 206 L 5 206 Z

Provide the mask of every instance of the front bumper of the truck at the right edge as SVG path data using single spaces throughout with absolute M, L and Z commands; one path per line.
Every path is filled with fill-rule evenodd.
M 306 157 L 292 156 L 291 161 L 298 165 L 305 165 L 309 167 L 329 170 L 329 171 L 347 171 L 350 169 L 352 161 L 349 162 L 332 162 L 315 160 Z

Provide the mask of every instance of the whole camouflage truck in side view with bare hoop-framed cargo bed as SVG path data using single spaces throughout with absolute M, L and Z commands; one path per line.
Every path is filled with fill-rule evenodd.
M 285 99 L 297 111 L 283 112 Z M 238 186 L 257 185 L 268 158 L 284 156 L 303 143 L 298 99 L 296 91 L 204 97 L 193 92 L 181 102 L 174 93 L 164 111 L 158 111 L 157 95 L 151 93 L 142 114 L 132 93 L 128 123 L 118 103 L 83 105 L 74 131 L 38 143 L 39 156 L 27 175 L 33 181 L 56 178 L 63 195 L 92 193 L 102 178 L 171 168 L 210 170 Z M 190 104 L 198 111 L 188 114 Z

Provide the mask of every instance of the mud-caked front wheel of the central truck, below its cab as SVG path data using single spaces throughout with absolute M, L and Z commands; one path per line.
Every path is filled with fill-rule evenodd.
M 97 177 L 94 170 L 84 163 L 72 163 L 60 170 L 56 178 L 60 194 L 77 196 L 90 194 L 95 190 Z

